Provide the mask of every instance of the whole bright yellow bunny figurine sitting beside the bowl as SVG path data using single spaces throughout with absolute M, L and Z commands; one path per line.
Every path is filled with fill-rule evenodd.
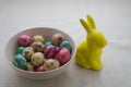
M 103 63 L 100 55 L 103 48 L 107 45 L 107 40 L 103 33 L 96 29 L 95 22 L 91 15 L 87 15 L 87 22 L 80 18 L 81 24 L 85 28 L 87 36 L 76 49 L 75 62 L 91 70 L 100 70 Z

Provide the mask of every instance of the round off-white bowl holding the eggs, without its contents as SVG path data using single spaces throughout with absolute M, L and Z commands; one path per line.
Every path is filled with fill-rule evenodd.
M 71 60 L 69 62 L 67 62 L 64 65 L 62 65 L 58 69 L 51 70 L 51 71 L 46 71 L 46 72 L 28 72 L 28 71 L 23 71 L 21 69 L 17 69 L 13 65 L 12 62 L 13 62 L 13 59 L 15 55 L 19 36 L 23 35 L 23 34 L 27 34 L 29 36 L 41 35 L 41 36 L 50 37 L 51 35 L 57 34 L 57 33 L 64 35 L 66 39 L 68 41 L 70 41 L 70 44 L 73 48 L 72 53 L 71 53 Z M 23 30 L 16 35 L 14 35 L 9 40 L 9 42 L 7 44 L 7 47 L 5 47 L 5 55 L 8 58 L 9 64 L 13 67 L 13 70 L 16 72 L 16 74 L 19 74 L 20 76 L 26 77 L 26 78 L 31 78 L 31 79 L 47 79 L 47 78 L 57 76 L 58 74 L 66 71 L 70 66 L 70 63 L 75 55 L 75 52 L 76 52 L 75 44 L 68 34 L 66 34 L 59 29 L 49 28 L 49 27 L 35 27 L 35 28 L 29 28 L 29 29 Z

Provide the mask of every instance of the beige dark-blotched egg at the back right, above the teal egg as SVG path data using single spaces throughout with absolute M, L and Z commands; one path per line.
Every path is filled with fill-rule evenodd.
M 60 46 L 60 42 L 63 41 L 64 39 L 66 39 L 66 37 L 61 34 L 55 34 L 51 37 L 51 40 L 55 46 Z

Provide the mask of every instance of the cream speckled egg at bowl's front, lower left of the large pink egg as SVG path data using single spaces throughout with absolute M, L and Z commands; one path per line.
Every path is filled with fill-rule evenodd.
M 53 69 L 59 67 L 59 66 L 60 66 L 60 63 L 59 63 L 59 61 L 56 60 L 56 59 L 48 59 L 48 60 L 45 62 L 44 66 L 45 66 L 45 70 L 46 70 L 46 71 L 50 71 L 50 70 L 53 70 Z

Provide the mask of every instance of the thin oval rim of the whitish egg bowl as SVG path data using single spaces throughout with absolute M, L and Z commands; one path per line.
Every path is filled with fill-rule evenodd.
M 24 29 L 24 30 L 21 30 L 21 32 L 14 34 L 14 35 L 9 39 L 9 41 L 10 41 L 13 37 L 15 37 L 16 35 L 19 35 L 20 33 L 24 33 L 24 32 L 26 32 L 26 30 L 32 30 L 32 29 L 43 29 L 43 28 L 58 30 L 58 32 L 60 32 L 60 33 L 66 34 L 68 37 L 71 38 L 71 36 L 69 36 L 66 32 L 60 30 L 60 29 L 57 29 L 57 28 L 52 28 L 52 27 L 32 27 L 32 28 L 27 28 L 27 29 Z M 7 48 L 8 48 L 9 41 L 7 42 L 5 52 L 4 52 L 4 53 L 7 53 Z M 9 64 L 10 64 L 13 69 L 15 69 L 15 70 L 17 70 L 17 71 L 20 71 L 20 72 L 22 72 L 22 73 L 27 73 L 27 74 L 46 74 L 46 73 L 51 73 L 51 72 L 59 71 L 59 70 L 63 69 L 64 66 L 67 66 L 68 64 L 70 64 L 70 63 L 73 61 L 73 58 L 75 57 L 75 53 L 76 53 L 76 45 L 75 45 L 75 42 L 74 42 L 74 40 L 73 40 L 72 38 L 71 38 L 71 41 L 72 41 L 72 44 L 74 45 L 74 54 L 72 54 L 71 59 L 70 59 L 66 64 L 61 65 L 60 67 L 50 70 L 50 71 L 46 71 L 46 72 L 24 71 L 24 70 L 21 70 L 21 69 L 14 66 L 14 65 L 9 61 L 7 54 L 5 54 L 5 58 L 7 58 L 8 62 L 9 62 Z

